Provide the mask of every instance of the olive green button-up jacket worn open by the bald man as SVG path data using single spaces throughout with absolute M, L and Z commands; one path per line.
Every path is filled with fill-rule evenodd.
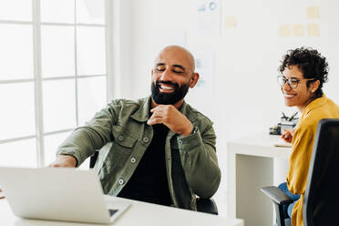
M 105 194 L 117 196 L 136 170 L 153 137 L 147 125 L 150 97 L 114 100 L 85 127 L 75 129 L 57 154 L 72 155 L 80 165 L 100 149 L 96 168 Z M 212 122 L 183 103 L 180 112 L 194 131 L 182 137 L 169 131 L 165 144 L 170 196 L 175 207 L 196 210 L 196 195 L 211 198 L 218 190 L 221 170 L 215 151 Z

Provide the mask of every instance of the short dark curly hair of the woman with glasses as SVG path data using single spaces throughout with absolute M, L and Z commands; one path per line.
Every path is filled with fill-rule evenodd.
M 328 81 L 328 63 L 316 49 L 300 47 L 288 50 L 281 62 L 282 65 L 278 69 L 281 73 L 286 67 L 297 66 L 303 72 L 304 78 L 313 78 L 314 80 L 307 81 L 307 87 L 310 87 L 313 81 L 319 80 L 320 84 L 314 97 L 323 97 L 323 84 Z

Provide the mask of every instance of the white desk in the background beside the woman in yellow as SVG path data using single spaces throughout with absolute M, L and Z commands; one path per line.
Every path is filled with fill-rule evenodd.
M 241 218 L 250 226 L 273 225 L 272 201 L 260 188 L 285 181 L 292 149 L 274 147 L 279 140 L 259 133 L 228 142 L 228 218 Z

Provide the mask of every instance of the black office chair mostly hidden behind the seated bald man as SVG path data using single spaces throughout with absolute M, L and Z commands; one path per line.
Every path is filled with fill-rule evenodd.
M 93 169 L 98 159 L 98 150 L 89 159 L 89 169 Z M 197 211 L 218 215 L 218 207 L 213 199 L 197 198 Z

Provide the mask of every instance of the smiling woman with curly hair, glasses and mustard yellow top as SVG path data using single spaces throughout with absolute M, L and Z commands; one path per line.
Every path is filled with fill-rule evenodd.
M 328 64 L 324 56 L 312 48 L 296 48 L 287 52 L 279 67 L 278 76 L 285 105 L 299 109 L 302 117 L 296 128 L 284 130 L 282 139 L 292 142 L 292 155 L 286 176 L 287 183 L 279 188 L 295 200 L 288 207 L 292 225 L 303 225 L 303 194 L 313 140 L 322 118 L 339 118 L 339 107 L 323 93 Z

